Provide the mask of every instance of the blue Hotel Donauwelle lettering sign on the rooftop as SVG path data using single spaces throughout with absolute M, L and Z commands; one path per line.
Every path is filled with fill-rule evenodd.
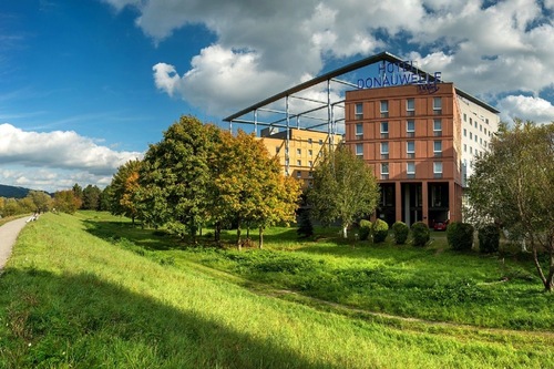
M 396 85 L 414 84 L 420 92 L 434 93 L 439 91 L 438 83 L 441 83 L 441 72 L 434 72 L 431 76 L 428 73 L 420 75 L 416 73 L 413 61 L 388 62 L 379 64 L 379 76 L 370 76 L 358 80 L 358 89 L 377 89 Z

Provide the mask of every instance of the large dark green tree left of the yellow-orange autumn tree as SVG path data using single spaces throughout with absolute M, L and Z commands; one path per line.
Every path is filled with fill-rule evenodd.
M 212 181 L 211 136 L 193 116 L 182 116 L 164 132 L 160 143 L 150 146 L 138 174 L 141 206 L 145 219 L 194 240 L 208 219 L 208 191 Z

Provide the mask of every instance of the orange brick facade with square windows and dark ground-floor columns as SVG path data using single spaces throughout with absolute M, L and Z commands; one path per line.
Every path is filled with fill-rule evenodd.
M 417 85 L 348 91 L 346 144 L 381 186 L 376 216 L 461 221 L 461 113 L 452 83 L 429 93 Z

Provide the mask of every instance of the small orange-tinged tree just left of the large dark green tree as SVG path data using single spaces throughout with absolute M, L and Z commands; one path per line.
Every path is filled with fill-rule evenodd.
M 117 168 L 107 189 L 110 211 L 114 215 L 125 215 L 135 224 L 138 215 L 138 171 L 141 161 L 132 160 Z M 99 194 L 99 201 L 100 201 Z

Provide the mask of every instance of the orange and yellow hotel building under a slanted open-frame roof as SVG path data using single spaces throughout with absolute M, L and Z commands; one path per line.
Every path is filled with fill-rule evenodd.
M 372 68 L 373 76 L 360 79 L 363 68 Z M 327 91 L 327 98 L 306 98 L 305 92 L 314 88 Z M 295 99 L 316 104 L 293 112 Z M 284 109 L 268 107 L 279 101 Z M 278 116 L 261 121 L 258 112 Z M 325 123 L 315 112 L 326 113 Z M 245 117 L 249 114 L 254 120 Z M 319 121 L 293 129 L 290 122 L 300 117 L 302 122 L 309 117 Z M 255 131 L 265 126 L 259 134 L 269 152 L 279 155 L 286 174 L 307 185 L 316 148 L 322 146 L 314 147 L 315 143 L 331 147 L 342 136 L 342 143 L 373 168 L 379 182 L 381 197 L 373 217 L 389 224 L 422 221 L 432 226 L 462 219 L 463 189 L 472 162 L 488 150 L 500 119 L 494 107 L 441 81 L 440 72 L 430 74 L 383 52 L 304 82 L 225 121 L 230 126 L 254 124 Z

